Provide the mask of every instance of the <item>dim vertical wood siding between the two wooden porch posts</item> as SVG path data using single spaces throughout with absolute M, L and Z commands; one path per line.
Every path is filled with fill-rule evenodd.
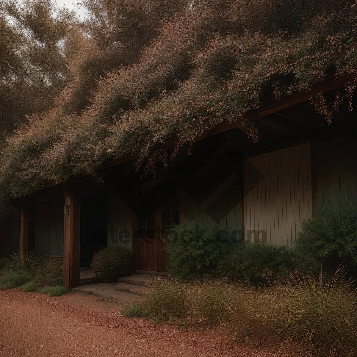
M 35 251 L 41 255 L 63 255 L 63 202 L 40 198 L 35 203 Z

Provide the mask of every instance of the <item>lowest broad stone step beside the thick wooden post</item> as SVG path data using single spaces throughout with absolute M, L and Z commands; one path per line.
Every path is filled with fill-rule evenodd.
M 93 285 L 77 286 L 74 288 L 74 291 L 86 295 L 92 295 L 102 300 L 119 302 L 126 306 L 130 302 L 142 298 L 140 295 L 138 296 L 128 292 L 116 291 L 114 289 L 116 284 L 117 283 L 99 283 Z

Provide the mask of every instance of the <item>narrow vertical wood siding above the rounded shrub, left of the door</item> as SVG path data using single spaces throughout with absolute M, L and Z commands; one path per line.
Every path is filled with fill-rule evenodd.
M 132 252 L 132 210 L 118 195 L 108 197 L 107 247 L 124 247 Z

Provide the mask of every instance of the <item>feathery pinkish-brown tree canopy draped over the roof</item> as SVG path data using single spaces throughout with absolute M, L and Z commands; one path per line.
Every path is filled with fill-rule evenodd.
M 54 99 L 45 109 L 26 107 L 23 114 L 32 116 L 6 140 L 0 158 L 3 197 L 31 193 L 47 180 L 96 172 L 104 161 L 126 154 L 138 158 L 145 175 L 223 121 L 241 120 L 240 128 L 257 141 L 257 129 L 243 117 L 262 105 L 268 89 L 277 97 L 291 95 L 322 82 L 327 72 L 355 71 L 357 7 L 348 0 L 84 0 L 83 5 L 89 16 L 81 24 L 64 10 L 51 17 L 62 29 L 56 46 L 65 51 L 66 68 L 45 82 L 58 81 L 62 73 L 65 82 L 58 94 L 51 89 L 47 97 Z M 26 28 L 33 17 L 29 12 L 29 20 L 22 20 L 22 11 L 9 14 Z M 3 42 L 17 53 L 25 32 L 9 32 L 13 40 Z M 35 41 L 39 50 L 46 48 L 41 39 Z M 355 84 L 346 96 L 354 89 Z M 48 90 L 37 84 L 29 96 L 40 103 Z M 165 143 L 173 139 L 170 151 Z

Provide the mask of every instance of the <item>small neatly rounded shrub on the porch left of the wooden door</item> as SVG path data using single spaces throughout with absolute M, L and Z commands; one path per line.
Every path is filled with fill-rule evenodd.
M 92 259 L 91 268 L 96 277 L 118 278 L 130 271 L 129 251 L 121 247 L 109 247 L 98 251 Z

